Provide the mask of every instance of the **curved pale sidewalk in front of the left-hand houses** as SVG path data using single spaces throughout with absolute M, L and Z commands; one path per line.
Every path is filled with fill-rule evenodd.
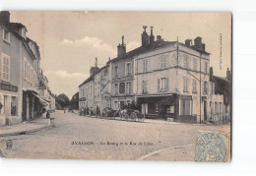
M 25 135 L 39 130 L 43 130 L 49 127 L 49 119 L 45 118 L 45 115 L 36 118 L 30 122 L 25 122 L 12 126 L 0 127 L 0 137 Z

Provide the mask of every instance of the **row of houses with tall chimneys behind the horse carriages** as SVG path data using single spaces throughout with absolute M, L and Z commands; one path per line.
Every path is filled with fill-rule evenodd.
M 102 68 L 97 67 L 96 59 L 90 78 L 79 86 L 80 110 L 117 110 L 134 101 L 146 118 L 188 123 L 226 119 L 230 94 L 224 91 L 230 76 L 227 80 L 213 76 L 202 37 L 196 37 L 194 43 L 192 39 L 165 41 L 160 35 L 155 39 L 153 27 L 150 34 L 143 28 L 140 47 L 126 52 L 122 36 L 116 58 Z M 224 84 L 222 90 L 220 83 Z

